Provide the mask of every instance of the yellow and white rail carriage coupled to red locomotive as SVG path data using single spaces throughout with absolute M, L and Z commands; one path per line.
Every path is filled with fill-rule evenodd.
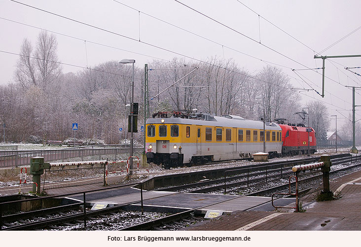
M 158 112 L 145 123 L 148 163 L 164 168 L 214 161 L 269 158 L 315 153 L 313 128 L 304 125 L 247 120 L 236 115 Z

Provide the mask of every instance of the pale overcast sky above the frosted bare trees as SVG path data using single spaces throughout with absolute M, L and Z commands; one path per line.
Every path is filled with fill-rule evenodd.
M 296 74 L 292 69 L 321 68 L 322 59 L 314 59 L 314 55 L 361 27 L 360 0 L 179 1 L 200 13 L 175 0 L 19 0 L 69 20 L 0 0 L 0 84 L 13 82 L 19 58 L 6 52 L 19 54 L 24 38 L 35 46 L 40 29 L 45 29 L 57 33 L 64 73 L 81 70 L 76 66 L 123 58 L 135 59 L 136 65 L 144 68 L 154 58 L 185 56 L 186 60 L 205 61 L 218 56 L 233 58 L 251 73 L 267 64 L 275 66 L 289 76 L 294 88 L 321 93 L 322 70 L 317 70 L 319 74 L 312 70 Z M 360 41 L 361 29 L 321 55 L 361 54 Z M 352 90 L 345 85 L 361 86 L 361 77 L 344 67 L 361 67 L 361 58 L 326 60 L 325 75 L 329 79 L 325 79 L 325 98 L 313 90 L 298 90 L 305 103 L 314 99 L 325 102 L 329 114 L 337 114 L 340 121 L 352 109 Z M 361 69 L 352 71 L 361 74 Z M 356 105 L 361 105 L 360 95 L 358 91 Z

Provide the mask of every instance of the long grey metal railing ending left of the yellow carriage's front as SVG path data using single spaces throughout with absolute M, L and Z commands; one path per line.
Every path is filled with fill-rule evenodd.
M 133 155 L 141 157 L 144 148 L 136 147 Z M 30 158 L 44 157 L 44 162 L 80 162 L 107 160 L 128 160 L 130 148 L 72 148 L 52 150 L 0 151 L 0 167 L 30 165 Z

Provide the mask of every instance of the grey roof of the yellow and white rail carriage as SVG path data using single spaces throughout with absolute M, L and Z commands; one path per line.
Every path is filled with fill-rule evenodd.
M 163 118 L 163 124 L 196 124 L 196 125 L 210 125 L 221 127 L 238 127 L 238 128 L 258 128 L 263 129 L 263 122 L 246 120 L 240 116 L 223 115 L 222 117 L 211 116 L 210 120 L 201 119 L 183 119 L 183 118 Z M 162 118 L 147 119 L 146 124 L 162 124 Z M 265 129 L 281 130 L 279 124 L 273 122 L 266 122 Z

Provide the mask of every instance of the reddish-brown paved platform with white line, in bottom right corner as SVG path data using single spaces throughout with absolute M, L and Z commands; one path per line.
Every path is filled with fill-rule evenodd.
M 333 192 L 340 191 L 337 200 L 316 202 L 316 194 L 302 198 L 306 212 L 235 211 L 201 223 L 187 230 L 228 231 L 360 231 L 361 171 L 330 181 Z M 291 210 L 293 211 L 293 209 Z

